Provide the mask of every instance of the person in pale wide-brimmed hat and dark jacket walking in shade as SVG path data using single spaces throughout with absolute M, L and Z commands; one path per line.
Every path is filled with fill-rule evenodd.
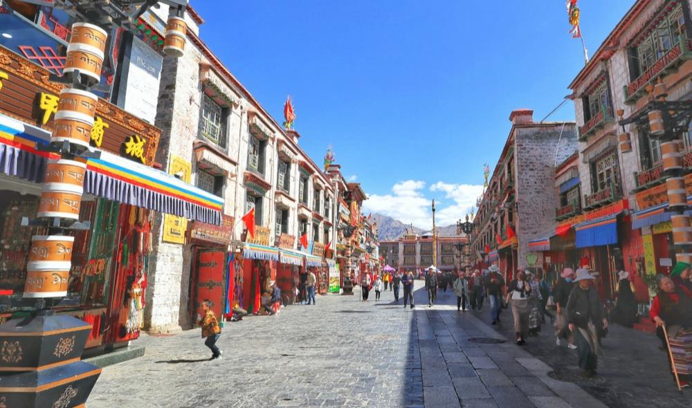
M 608 328 L 608 319 L 596 288 L 591 284 L 594 277 L 588 270 L 576 270 L 570 299 L 567 300 L 567 322 L 574 333 L 576 351 L 579 354 L 579 368 L 587 377 L 596 375 L 598 354 L 601 351 L 601 337 Z

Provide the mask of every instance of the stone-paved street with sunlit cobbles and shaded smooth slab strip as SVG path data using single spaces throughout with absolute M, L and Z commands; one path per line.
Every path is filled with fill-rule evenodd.
M 329 295 L 248 317 L 224 328 L 223 360 L 206 360 L 199 330 L 144 336 L 145 356 L 106 367 L 89 407 L 603 407 L 511 342 L 475 342 L 506 339 L 450 291 L 416 299 Z

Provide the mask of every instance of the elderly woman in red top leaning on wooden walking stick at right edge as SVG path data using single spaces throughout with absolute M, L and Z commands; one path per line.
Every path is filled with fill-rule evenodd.
M 658 294 L 649 314 L 656 324 L 656 335 L 670 347 L 666 346 L 666 351 L 673 351 L 674 372 L 679 376 L 680 387 L 689 387 L 692 382 L 692 292 L 684 286 L 675 286 L 673 279 L 665 275 L 658 275 L 656 280 Z M 670 353 L 668 365 L 673 371 Z

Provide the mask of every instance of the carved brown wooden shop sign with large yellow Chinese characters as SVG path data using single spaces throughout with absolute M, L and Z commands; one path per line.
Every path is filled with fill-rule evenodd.
M 49 72 L 0 47 L 0 112 L 53 131 L 58 95 L 63 85 L 49 80 Z M 96 104 L 91 145 L 113 154 L 152 165 L 161 131 L 105 100 Z

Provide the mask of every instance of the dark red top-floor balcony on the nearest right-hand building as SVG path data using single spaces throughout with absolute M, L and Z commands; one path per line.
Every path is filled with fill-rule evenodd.
M 648 84 L 653 85 L 659 77 L 675 70 L 677 66 L 687 59 L 692 59 L 692 39 L 680 36 L 677 44 L 666 55 L 639 75 L 636 80 L 624 86 L 625 103 L 634 104 L 637 102 L 639 98 L 646 94 L 646 86 Z

